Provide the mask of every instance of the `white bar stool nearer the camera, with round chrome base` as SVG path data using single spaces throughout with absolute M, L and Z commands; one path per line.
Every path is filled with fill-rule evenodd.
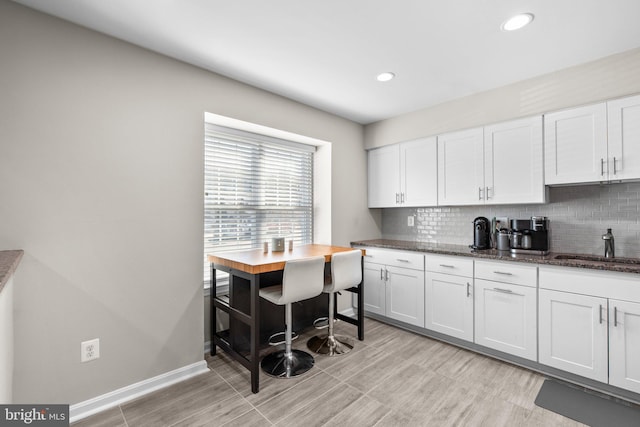
M 323 286 L 324 257 L 318 256 L 287 261 L 282 284 L 260 289 L 260 297 L 273 304 L 285 306 L 285 348 L 268 354 L 262 359 L 260 366 L 266 374 L 279 378 L 291 378 L 313 367 L 315 361 L 312 355 L 302 350 L 291 349 L 293 335 L 291 303 L 320 295 Z M 273 336 L 269 339 L 270 344 L 272 344 L 272 338 Z M 272 345 L 277 344 L 281 343 Z

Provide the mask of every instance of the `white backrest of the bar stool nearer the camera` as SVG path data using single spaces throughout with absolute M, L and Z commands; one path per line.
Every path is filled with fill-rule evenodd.
M 313 298 L 324 287 L 324 257 L 287 261 L 282 277 L 282 304 Z

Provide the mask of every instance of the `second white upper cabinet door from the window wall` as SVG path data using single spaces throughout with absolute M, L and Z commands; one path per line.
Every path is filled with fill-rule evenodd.
M 400 144 L 402 206 L 438 204 L 438 156 L 436 137 Z

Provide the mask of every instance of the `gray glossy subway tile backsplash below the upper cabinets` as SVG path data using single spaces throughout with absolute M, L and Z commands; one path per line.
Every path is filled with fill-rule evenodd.
M 407 218 L 414 217 L 409 227 Z M 469 245 L 473 219 L 550 220 L 551 250 L 603 255 L 602 235 L 612 229 L 617 257 L 640 257 L 640 183 L 552 187 L 549 202 L 536 205 L 390 208 L 382 211 L 382 237 Z

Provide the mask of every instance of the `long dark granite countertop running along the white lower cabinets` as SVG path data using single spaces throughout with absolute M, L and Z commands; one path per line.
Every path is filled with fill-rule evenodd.
M 548 255 L 534 255 L 526 253 L 512 254 L 509 251 L 498 251 L 496 249 L 475 250 L 466 245 L 449 245 L 442 243 L 425 243 L 388 239 L 360 240 L 351 242 L 351 245 L 640 274 L 639 258 L 606 259 L 604 257 L 587 254 L 565 254 L 556 252 L 551 252 Z M 558 259 L 558 256 L 564 259 Z M 566 259 L 567 257 L 573 256 L 588 259 Z

